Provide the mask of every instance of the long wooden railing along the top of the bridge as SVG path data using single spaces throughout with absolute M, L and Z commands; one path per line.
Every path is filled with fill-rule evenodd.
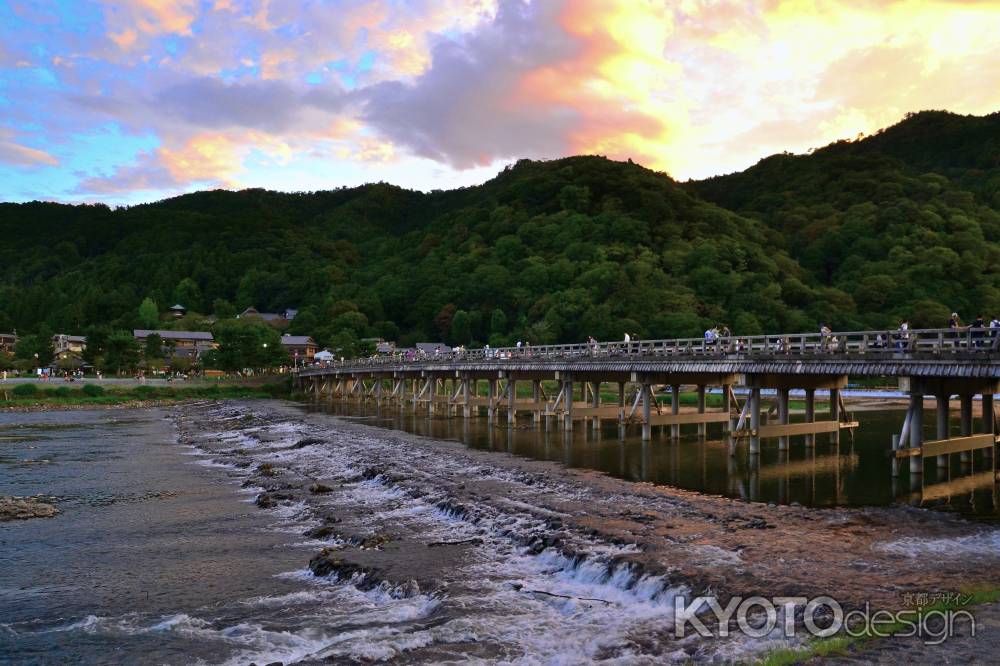
M 1000 347 L 1000 329 L 941 328 L 909 331 L 836 331 L 776 335 L 732 335 L 715 340 L 678 338 L 630 342 L 584 342 L 564 345 L 522 345 L 482 349 L 448 349 L 433 354 L 395 353 L 371 358 L 335 360 L 321 367 L 359 367 L 441 361 L 508 361 L 568 359 L 640 359 L 673 357 L 808 356 L 884 354 L 983 353 Z

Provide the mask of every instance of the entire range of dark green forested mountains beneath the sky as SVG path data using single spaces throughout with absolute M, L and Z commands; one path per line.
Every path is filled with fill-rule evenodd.
M 0 204 L 0 331 L 127 329 L 146 297 L 298 308 L 293 332 L 337 346 L 940 325 L 1000 312 L 998 141 L 998 114 L 933 112 L 683 185 L 571 157 L 426 194 Z

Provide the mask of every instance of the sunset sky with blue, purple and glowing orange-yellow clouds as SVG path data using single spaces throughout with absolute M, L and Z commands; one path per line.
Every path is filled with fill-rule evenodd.
M 1000 110 L 1000 0 L 0 0 L 0 201 L 678 180 Z

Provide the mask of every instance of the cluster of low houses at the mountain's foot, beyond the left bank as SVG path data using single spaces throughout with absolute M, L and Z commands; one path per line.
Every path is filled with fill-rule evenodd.
M 248 362 L 242 368 L 225 368 L 225 363 L 219 361 L 220 356 L 213 354 L 220 350 L 220 343 L 211 331 L 179 330 L 169 328 L 173 323 L 181 323 L 187 316 L 187 309 L 182 304 L 176 304 L 162 315 L 164 328 L 132 330 L 132 363 L 125 367 L 109 369 L 97 367 L 93 353 L 88 354 L 86 336 L 72 333 L 57 333 L 51 337 L 49 353 L 39 353 L 36 344 L 31 349 L 22 345 L 27 336 L 19 335 L 17 331 L 0 333 L 0 370 L 3 376 L 33 374 L 45 377 L 78 377 L 84 375 L 101 376 L 105 374 L 143 374 L 143 375 L 202 375 L 219 377 L 226 371 L 255 372 L 270 369 L 276 372 L 287 372 L 291 368 L 307 365 L 323 365 L 340 358 L 339 349 L 320 349 L 316 341 L 308 335 L 292 335 L 282 332 L 287 328 L 297 310 L 286 309 L 282 312 L 260 312 L 249 307 L 236 315 L 236 319 L 247 323 L 267 325 L 277 330 L 283 354 L 267 356 L 280 358 L 283 362 L 253 363 Z M 206 317 L 206 324 L 215 324 L 214 317 Z M 412 348 L 397 348 L 396 343 L 380 338 L 370 338 L 361 341 L 373 355 L 399 355 L 405 357 L 434 356 L 451 348 L 442 342 L 416 343 Z M 265 350 L 267 343 L 262 345 Z M 33 353 L 31 353 L 33 351 Z M 91 350 L 92 352 L 94 350 Z M 231 355 L 230 355 L 231 357 Z M 232 365 L 231 363 L 229 365 Z

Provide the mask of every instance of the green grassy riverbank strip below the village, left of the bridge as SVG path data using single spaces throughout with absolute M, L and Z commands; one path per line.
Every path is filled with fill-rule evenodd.
M 104 387 L 84 384 L 80 387 L 43 387 L 37 384 L 17 384 L 0 388 L 0 409 L 33 409 L 113 406 L 148 403 L 170 403 L 184 400 L 282 398 L 289 395 L 288 382 L 247 386 L 243 384 L 209 384 L 199 386 L 136 386 Z

